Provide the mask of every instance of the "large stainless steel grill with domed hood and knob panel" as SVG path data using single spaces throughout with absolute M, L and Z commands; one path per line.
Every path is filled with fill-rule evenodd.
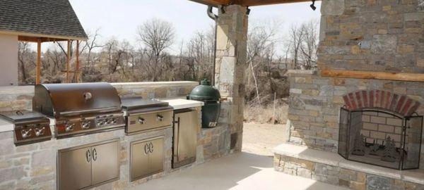
M 125 126 L 121 100 L 108 83 L 37 84 L 33 110 L 55 119 L 57 138 Z

